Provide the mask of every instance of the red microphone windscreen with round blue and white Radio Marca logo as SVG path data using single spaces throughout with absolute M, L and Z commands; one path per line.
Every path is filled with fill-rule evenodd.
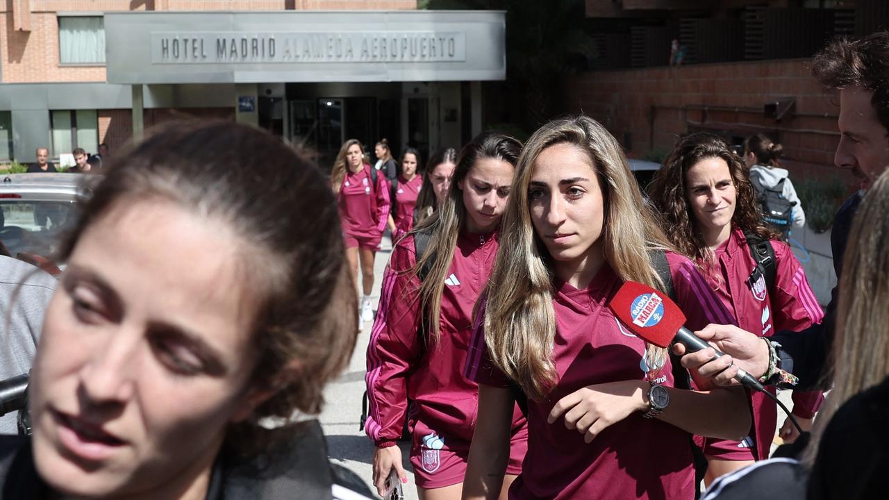
M 635 281 L 624 283 L 608 307 L 633 334 L 658 347 L 669 346 L 685 325 L 685 314 L 667 294 Z

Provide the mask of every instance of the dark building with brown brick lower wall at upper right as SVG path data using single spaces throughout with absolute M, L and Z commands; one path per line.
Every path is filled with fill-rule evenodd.
M 884 0 L 587 0 L 591 71 L 568 85 L 573 110 L 609 127 L 629 151 L 658 157 L 677 135 L 711 131 L 736 146 L 765 133 L 796 178 L 851 173 L 833 165 L 839 109 L 811 76 L 837 36 L 889 26 Z M 676 41 L 681 64 L 671 57 Z M 674 53 L 675 55 L 675 53 Z

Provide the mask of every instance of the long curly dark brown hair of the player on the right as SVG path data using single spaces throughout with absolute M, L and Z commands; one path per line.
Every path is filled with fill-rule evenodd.
M 705 158 L 724 160 L 732 174 L 737 191 L 733 226 L 745 233 L 755 233 L 759 238 L 780 238 L 775 230 L 763 222 L 748 168 L 741 158 L 716 134 L 689 133 L 677 142 L 648 187 L 648 196 L 660 212 L 661 227 L 670 242 L 696 262 L 706 262 L 709 259 L 709 246 L 704 243 L 685 192 L 685 173 Z

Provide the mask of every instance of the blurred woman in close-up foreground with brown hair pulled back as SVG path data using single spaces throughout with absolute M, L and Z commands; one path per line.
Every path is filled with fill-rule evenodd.
M 233 123 L 120 157 L 60 244 L 4 498 L 343 498 L 320 424 L 291 420 L 320 412 L 357 336 L 322 174 Z

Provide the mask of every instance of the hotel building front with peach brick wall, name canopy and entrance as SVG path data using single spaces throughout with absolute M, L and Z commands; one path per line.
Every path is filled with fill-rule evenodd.
M 257 125 L 327 161 L 355 137 L 459 147 L 505 77 L 503 12 L 416 0 L 15 0 L 0 6 L 0 160 L 114 150 L 177 117 Z

